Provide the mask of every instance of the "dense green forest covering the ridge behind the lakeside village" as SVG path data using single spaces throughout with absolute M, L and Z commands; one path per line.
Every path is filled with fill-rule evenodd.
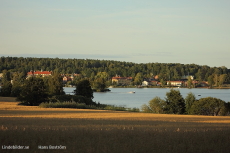
M 225 83 L 230 83 L 230 69 L 225 66 L 209 67 L 207 65 L 180 64 L 180 63 L 132 63 L 112 60 L 94 59 L 60 59 L 60 58 L 24 58 L 1 57 L 0 72 L 27 72 L 33 70 L 54 71 L 61 74 L 82 74 L 93 78 L 98 72 L 107 72 L 109 78 L 120 75 L 122 77 L 135 77 L 141 74 L 143 78 L 156 75 L 164 80 L 180 80 L 182 76 L 193 75 L 196 80 L 208 81 L 210 76 L 226 74 Z

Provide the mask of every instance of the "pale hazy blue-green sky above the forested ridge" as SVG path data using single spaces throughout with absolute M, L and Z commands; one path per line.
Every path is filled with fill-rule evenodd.
M 0 56 L 230 68 L 229 0 L 0 0 Z

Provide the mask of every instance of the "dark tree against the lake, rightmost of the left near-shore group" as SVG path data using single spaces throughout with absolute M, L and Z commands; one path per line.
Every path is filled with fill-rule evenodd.
M 83 79 L 76 84 L 75 95 L 81 95 L 90 99 L 93 99 L 93 90 L 90 82 L 87 79 Z

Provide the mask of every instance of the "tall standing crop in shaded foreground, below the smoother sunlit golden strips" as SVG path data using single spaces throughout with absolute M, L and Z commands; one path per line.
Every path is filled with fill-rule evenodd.
M 0 127 L 1 145 L 27 145 L 28 152 L 47 152 L 38 150 L 38 145 L 62 145 L 67 149 L 55 152 L 84 153 L 225 153 L 230 149 L 226 125 L 76 118 L 0 121 L 4 124 Z

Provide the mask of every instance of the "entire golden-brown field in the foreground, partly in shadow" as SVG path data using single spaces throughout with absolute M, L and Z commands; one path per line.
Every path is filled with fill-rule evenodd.
M 229 142 L 229 116 L 26 107 L 0 97 L 0 152 L 226 153 Z

